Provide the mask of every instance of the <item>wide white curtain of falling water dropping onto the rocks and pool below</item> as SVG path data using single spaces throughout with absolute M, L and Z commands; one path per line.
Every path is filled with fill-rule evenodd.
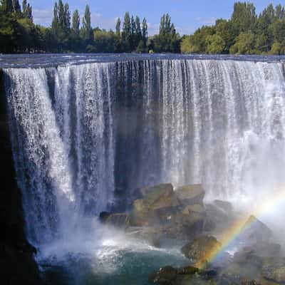
M 165 59 L 4 69 L 28 237 L 125 209 L 138 187 L 202 183 L 254 201 L 284 183 L 282 63 Z

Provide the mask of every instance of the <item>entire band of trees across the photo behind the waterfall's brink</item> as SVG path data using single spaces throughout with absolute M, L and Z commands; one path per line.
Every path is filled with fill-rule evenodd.
M 180 36 L 170 15 L 160 19 L 160 31 L 149 36 L 147 20 L 125 13 L 115 31 L 91 26 L 86 5 L 71 13 L 68 3 L 56 1 L 50 27 L 33 23 L 32 7 L 26 0 L 1 0 L 1 53 L 233 53 L 285 54 L 284 6 L 267 6 L 257 14 L 254 4 L 237 2 L 230 19 L 218 19 L 214 26 L 202 26 L 191 36 Z

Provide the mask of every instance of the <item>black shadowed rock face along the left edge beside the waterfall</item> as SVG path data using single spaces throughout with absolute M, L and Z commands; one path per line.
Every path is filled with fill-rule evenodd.
M 43 284 L 24 234 L 21 192 L 16 184 L 14 163 L 6 118 L 3 74 L 0 70 L 0 267 L 1 284 Z

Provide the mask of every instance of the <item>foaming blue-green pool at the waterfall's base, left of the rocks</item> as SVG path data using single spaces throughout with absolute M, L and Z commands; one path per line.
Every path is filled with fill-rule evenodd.
M 158 249 L 115 229 L 94 229 L 43 245 L 37 259 L 44 279 L 58 285 L 145 285 L 160 266 L 188 264 L 179 247 Z

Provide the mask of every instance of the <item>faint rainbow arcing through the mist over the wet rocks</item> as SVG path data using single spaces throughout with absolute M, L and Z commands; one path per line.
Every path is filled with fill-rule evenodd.
M 239 219 L 237 222 L 235 222 L 232 227 L 229 227 L 223 234 L 222 238 L 219 240 L 221 246 L 220 247 L 214 247 L 210 249 L 208 252 L 204 254 L 204 257 L 202 260 L 199 260 L 196 262 L 195 266 L 199 269 L 204 269 L 207 267 L 209 263 L 214 262 L 217 257 L 219 257 L 219 254 L 225 251 L 227 247 L 234 241 L 234 239 L 237 239 L 240 234 L 242 234 L 247 228 L 249 228 L 256 219 L 254 217 L 260 217 L 262 214 L 265 214 L 266 212 L 270 211 L 272 207 L 276 206 L 281 201 L 285 200 L 285 189 L 282 189 L 281 191 L 277 192 L 274 197 L 271 199 L 267 199 L 266 202 L 261 203 L 259 207 L 254 212 L 254 216 L 251 217 L 243 217 L 242 219 Z

